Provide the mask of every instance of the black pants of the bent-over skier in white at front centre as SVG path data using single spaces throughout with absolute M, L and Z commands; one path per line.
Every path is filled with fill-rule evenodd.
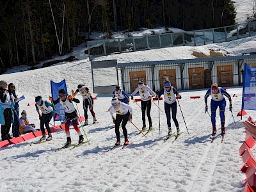
M 116 114 L 115 132 L 116 132 L 117 140 L 120 140 L 119 126 L 120 126 L 121 122 L 122 122 L 122 129 L 124 132 L 124 139 L 127 140 L 128 134 L 127 134 L 127 129 L 126 129 L 125 125 L 127 124 L 128 120 L 129 120 L 129 116 L 130 116 L 129 111 L 125 115 Z

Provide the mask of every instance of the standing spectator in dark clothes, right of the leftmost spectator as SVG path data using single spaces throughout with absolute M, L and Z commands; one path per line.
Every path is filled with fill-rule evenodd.
M 19 104 L 17 101 L 17 95 L 15 93 L 15 85 L 13 83 L 9 83 L 8 84 L 8 93 L 10 93 L 10 95 L 13 95 L 14 98 L 14 109 L 13 111 L 13 124 L 12 124 L 12 136 L 13 137 L 19 137 L 20 136 L 20 131 L 19 131 Z

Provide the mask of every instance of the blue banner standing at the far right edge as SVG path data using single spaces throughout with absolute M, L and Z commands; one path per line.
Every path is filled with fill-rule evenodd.
M 256 110 L 256 67 L 244 63 L 242 109 Z

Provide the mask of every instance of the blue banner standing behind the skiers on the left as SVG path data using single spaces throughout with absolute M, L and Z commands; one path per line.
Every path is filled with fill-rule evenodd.
M 66 86 L 66 81 L 65 79 L 63 79 L 60 83 L 54 83 L 53 81 L 51 81 L 51 91 L 52 91 L 52 99 L 56 100 L 59 98 L 59 90 L 64 89 L 67 93 L 67 86 Z M 54 111 L 54 121 L 65 121 L 65 108 L 63 108 L 63 106 L 61 106 L 60 103 L 55 105 L 58 116 L 56 118 L 55 116 L 55 111 Z

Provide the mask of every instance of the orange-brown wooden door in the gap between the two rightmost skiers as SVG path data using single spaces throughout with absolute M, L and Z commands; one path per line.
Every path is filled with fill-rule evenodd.
M 188 68 L 189 74 L 189 89 L 205 88 L 205 72 L 204 67 Z

